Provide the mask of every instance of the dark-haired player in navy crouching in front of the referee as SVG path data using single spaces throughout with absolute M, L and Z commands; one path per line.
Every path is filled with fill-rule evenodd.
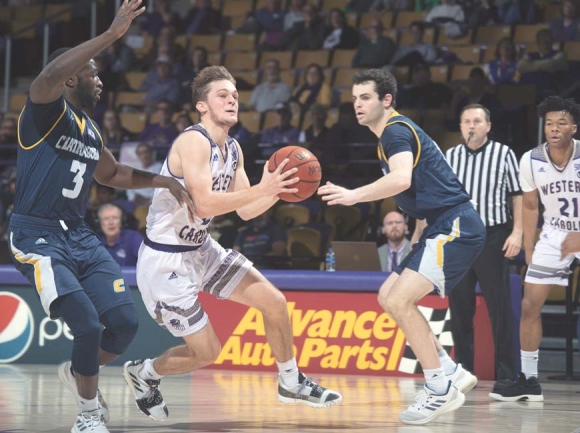
M 384 176 L 353 190 L 328 182 L 318 193 L 329 205 L 346 206 L 394 196 L 407 215 L 427 220 L 419 242 L 379 291 L 379 303 L 403 330 L 426 379 L 417 402 L 399 419 L 426 424 L 461 407 L 477 379 L 449 358 L 416 303 L 433 289 L 441 297 L 453 289 L 481 252 L 485 227 L 437 144 L 395 111 L 393 75 L 371 69 L 355 74 L 353 82 L 358 122 L 380 138 Z

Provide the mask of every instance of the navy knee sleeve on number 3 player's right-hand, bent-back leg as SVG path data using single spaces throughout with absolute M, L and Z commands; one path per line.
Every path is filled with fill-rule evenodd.
M 121 355 L 127 350 L 139 327 L 137 309 L 134 304 L 120 305 L 105 311 L 101 316 L 105 325 L 101 349 L 115 355 Z

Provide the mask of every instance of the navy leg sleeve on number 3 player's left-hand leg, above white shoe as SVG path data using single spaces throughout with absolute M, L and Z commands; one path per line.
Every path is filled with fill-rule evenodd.
M 57 310 L 71 330 L 73 370 L 83 376 L 99 372 L 99 346 L 102 327 L 88 295 L 79 290 L 58 299 Z

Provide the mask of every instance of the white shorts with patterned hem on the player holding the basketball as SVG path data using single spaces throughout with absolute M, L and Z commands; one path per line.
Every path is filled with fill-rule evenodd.
M 137 285 L 151 317 L 174 336 L 184 337 L 208 323 L 198 293 L 227 299 L 251 267 L 242 254 L 224 249 L 209 236 L 199 249 L 187 252 L 141 244 Z

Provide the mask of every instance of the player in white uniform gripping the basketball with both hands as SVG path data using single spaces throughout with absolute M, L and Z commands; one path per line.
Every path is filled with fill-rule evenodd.
M 317 385 L 298 371 L 286 299 L 242 254 L 225 250 L 208 235 L 213 216 L 236 211 L 249 220 L 292 193 L 297 169 L 282 174 L 264 166 L 258 185 L 250 186 L 242 149 L 228 130 L 238 121 L 235 80 L 223 66 L 203 69 L 192 85 L 193 103 L 201 122 L 173 142 L 161 172 L 182 182 L 194 199 L 192 223 L 185 207 L 163 190 L 155 191 L 147 216 L 147 235 L 139 251 L 137 284 L 151 317 L 185 344 L 155 359 L 129 361 L 124 376 L 139 409 L 156 420 L 168 416 L 159 381 L 212 364 L 220 342 L 198 300 L 204 291 L 257 308 L 264 317 L 266 337 L 276 358 L 278 399 L 327 407 L 342 396 Z

